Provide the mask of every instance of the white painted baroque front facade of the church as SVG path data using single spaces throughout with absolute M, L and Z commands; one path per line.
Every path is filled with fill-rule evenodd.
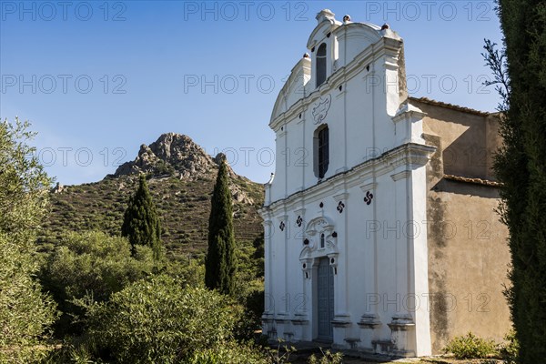
M 277 165 L 261 209 L 263 332 L 270 339 L 428 355 L 427 230 L 420 223 L 427 220 L 425 166 L 434 148 L 421 139 L 423 113 L 401 104 L 403 43 L 389 28 L 341 23 L 329 10 L 317 19 L 309 56 L 292 69 L 269 123 Z M 326 81 L 317 86 L 322 44 Z M 319 178 L 317 131 L 324 125 L 329 165 Z

